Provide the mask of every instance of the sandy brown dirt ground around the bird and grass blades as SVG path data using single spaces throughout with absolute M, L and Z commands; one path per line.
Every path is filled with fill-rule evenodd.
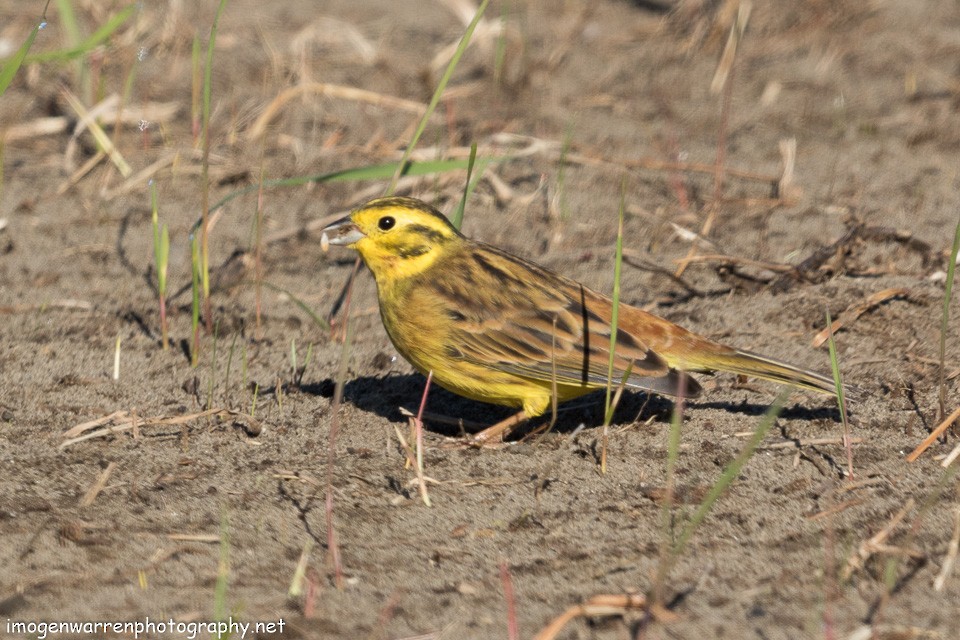
M 85 34 L 122 8 L 75 5 Z M 217 335 L 191 367 L 181 289 L 202 206 L 191 43 L 206 42 L 216 10 L 197 5 L 140 3 L 86 63 L 30 64 L 0 99 L 0 636 L 23 637 L 12 622 L 232 616 L 284 622 L 247 638 L 510 638 L 514 622 L 532 638 L 594 596 L 657 587 L 656 615 L 579 618 L 558 637 L 960 637 L 960 570 L 934 585 L 960 507 L 941 466 L 956 438 L 905 459 L 938 422 L 944 271 L 960 211 L 956 3 L 757 0 L 713 91 L 746 3 L 512 0 L 490 6 L 458 66 L 417 157 L 462 158 L 473 142 L 481 156 L 509 156 L 469 201 L 467 235 L 610 292 L 622 193 L 625 302 L 823 371 L 827 347 L 812 342 L 825 311 L 844 321 L 840 366 L 863 390 L 852 481 L 835 402 L 795 393 L 661 579 L 665 541 L 743 449 L 775 385 L 701 378 L 669 526 L 673 404 L 642 394 L 615 415 L 605 475 L 602 395 L 563 407 L 549 435 L 494 450 L 449 448 L 459 427 L 427 420 L 427 508 L 395 432 L 408 433 L 401 410 L 416 410 L 425 380 L 390 344 L 369 274 L 356 280 L 346 352 L 342 314 L 331 331 L 297 304 L 330 313 L 354 256 L 324 254 L 317 229 L 387 181 L 265 189 L 256 259 L 261 176 L 399 159 L 463 33 L 457 3 L 227 5 L 210 202 L 254 192 L 231 200 L 211 232 Z M 19 46 L 40 10 L 0 3 L 3 46 Z M 67 46 L 53 6 L 48 21 L 34 52 Z M 97 143 L 74 135 L 66 92 L 91 108 L 131 77 L 128 123 L 104 120 L 130 165 L 124 177 L 110 159 L 91 161 Z M 43 118 L 63 120 L 41 133 Z M 795 166 L 778 184 L 790 141 Z M 171 238 L 168 351 L 150 178 Z M 449 212 L 464 180 L 404 179 L 398 192 Z M 691 252 L 698 259 L 673 277 Z M 953 307 L 947 412 L 960 367 Z M 189 418 L 208 408 L 237 413 Z M 508 414 L 439 389 L 427 410 L 468 425 Z M 114 432 L 63 446 L 72 428 L 111 415 L 101 426 Z

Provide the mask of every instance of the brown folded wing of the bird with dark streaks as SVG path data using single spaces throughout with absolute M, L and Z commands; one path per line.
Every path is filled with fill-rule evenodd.
M 494 247 L 475 244 L 438 265 L 457 277 L 435 283 L 452 323 L 448 353 L 532 380 L 602 387 L 610 358 L 609 299 Z M 475 292 L 484 292 L 480 299 Z M 614 384 L 688 396 L 699 385 L 623 327 L 617 331 Z

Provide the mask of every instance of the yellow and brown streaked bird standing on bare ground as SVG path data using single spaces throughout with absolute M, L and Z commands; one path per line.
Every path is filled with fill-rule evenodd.
M 379 198 L 323 230 L 356 249 L 377 281 L 397 351 L 440 386 L 522 411 L 485 442 L 562 402 L 606 388 L 613 302 L 532 262 L 464 237 L 413 198 Z M 629 305 L 619 306 L 613 384 L 687 397 L 686 372 L 728 371 L 834 394 L 832 378 L 741 351 Z M 555 390 L 555 391 L 554 391 Z

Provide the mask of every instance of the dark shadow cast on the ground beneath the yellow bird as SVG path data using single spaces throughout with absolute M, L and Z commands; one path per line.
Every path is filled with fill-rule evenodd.
M 344 385 L 343 399 L 362 411 L 375 413 L 391 422 L 405 423 L 407 418 L 401 413 L 401 407 L 412 414 L 416 414 L 420 407 L 425 384 L 426 378 L 420 374 L 388 374 L 382 377 L 361 376 Z M 334 381 L 328 378 L 316 383 L 304 384 L 300 387 L 300 390 L 305 393 L 331 398 L 334 388 Z M 553 430 L 560 433 L 569 433 L 584 424 L 588 427 L 603 424 L 604 396 L 604 391 L 596 391 L 561 404 Z M 673 407 L 673 399 L 656 394 L 627 392 L 623 394 L 611 424 L 615 426 L 628 425 L 637 421 L 649 420 L 651 417 L 657 422 L 669 422 Z M 744 416 L 761 416 L 770 409 L 770 405 L 747 401 L 738 403 L 687 401 L 687 412 L 696 411 L 698 408 L 721 409 Z M 445 436 L 462 436 L 465 432 L 469 433 L 496 424 L 517 411 L 518 409 L 468 400 L 434 384 L 431 386 L 427 398 L 426 412 L 440 414 L 462 422 L 460 424 L 445 424 L 427 418 L 424 419 L 424 424 L 428 430 L 434 433 Z M 836 408 L 825 406 L 793 405 L 784 407 L 780 412 L 780 417 L 791 420 L 840 421 L 839 411 Z M 545 415 L 530 421 L 527 425 L 518 429 L 516 433 L 522 435 L 548 423 L 550 420 L 551 412 L 548 410 Z

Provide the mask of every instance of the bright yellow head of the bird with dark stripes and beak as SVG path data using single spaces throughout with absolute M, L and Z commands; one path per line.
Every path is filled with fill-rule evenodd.
M 418 274 L 465 240 L 430 205 L 399 197 L 371 200 L 323 230 L 324 245 L 356 249 L 378 282 Z

